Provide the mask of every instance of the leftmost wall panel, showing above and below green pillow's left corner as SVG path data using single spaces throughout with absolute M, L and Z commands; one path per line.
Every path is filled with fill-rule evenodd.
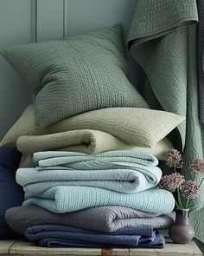
M 31 0 L 0 0 L 0 48 L 31 42 Z M 27 83 L 0 56 L 0 139 L 31 101 Z

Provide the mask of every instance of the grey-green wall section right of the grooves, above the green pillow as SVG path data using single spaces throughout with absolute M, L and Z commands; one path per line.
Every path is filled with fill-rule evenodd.
M 137 7 L 136 0 L 65 0 L 66 36 L 122 23 L 125 35 Z

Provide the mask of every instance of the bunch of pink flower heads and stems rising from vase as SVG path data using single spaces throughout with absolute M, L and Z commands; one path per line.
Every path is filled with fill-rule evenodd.
M 186 181 L 182 174 L 176 172 L 176 168 L 182 168 L 182 154 L 176 149 L 170 149 L 167 157 L 166 164 L 169 167 L 174 167 L 174 173 L 165 175 L 159 182 L 159 187 L 168 190 L 170 193 L 177 192 L 177 201 L 175 200 L 176 207 L 182 207 L 182 197 L 186 200 L 186 208 L 190 207 L 194 198 L 199 195 L 201 183 L 204 180 L 204 160 L 196 159 L 192 161 L 191 171 L 195 180 L 197 174 L 202 175 L 200 184 L 197 181 Z

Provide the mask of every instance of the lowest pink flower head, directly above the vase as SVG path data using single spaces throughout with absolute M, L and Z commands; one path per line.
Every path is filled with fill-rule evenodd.
M 182 195 L 188 199 L 194 199 L 199 195 L 199 185 L 196 181 L 185 181 L 181 186 Z

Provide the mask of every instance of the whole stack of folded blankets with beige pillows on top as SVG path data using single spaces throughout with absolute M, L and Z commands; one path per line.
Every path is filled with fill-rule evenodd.
M 25 192 L 7 223 L 40 246 L 163 247 L 158 229 L 173 224 L 175 201 L 157 188 L 158 159 L 172 148 L 165 135 L 183 120 L 104 108 L 35 130 L 30 105 L 1 142 L 22 153 L 16 182 Z

